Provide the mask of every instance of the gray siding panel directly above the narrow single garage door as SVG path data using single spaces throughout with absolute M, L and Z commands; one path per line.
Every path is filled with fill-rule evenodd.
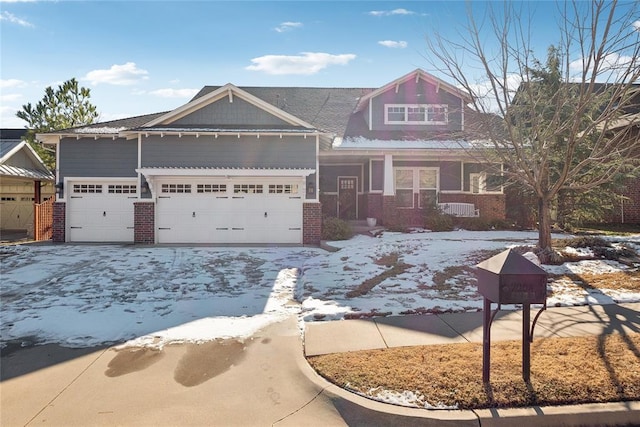
M 64 138 L 60 141 L 60 179 L 137 177 L 138 140 Z

